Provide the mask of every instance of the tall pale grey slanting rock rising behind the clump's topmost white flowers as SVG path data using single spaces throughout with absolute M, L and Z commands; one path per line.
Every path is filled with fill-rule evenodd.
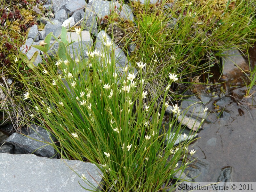
M 103 44 L 104 40 L 103 40 L 103 33 L 105 34 L 104 31 L 100 31 L 100 33 L 98 33 L 98 36 L 96 38 L 96 44 L 95 44 L 95 49 L 99 52 L 102 52 L 103 50 L 103 46 L 105 46 Z M 108 36 L 108 41 L 111 40 L 111 38 Z M 112 42 L 113 43 L 113 42 Z M 125 56 L 124 52 L 122 51 L 122 49 L 120 47 L 118 47 L 116 44 L 113 43 L 114 46 L 114 50 L 115 50 L 115 59 L 116 59 L 116 73 L 117 74 L 121 74 L 123 71 L 124 67 L 129 67 L 129 71 L 133 71 L 134 74 L 136 74 L 138 71 L 135 68 L 132 68 L 131 66 L 131 62 L 128 61 L 127 57 Z M 109 52 L 111 52 L 111 48 L 109 49 Z M 122 73 L 124 74 L 124 73 Z

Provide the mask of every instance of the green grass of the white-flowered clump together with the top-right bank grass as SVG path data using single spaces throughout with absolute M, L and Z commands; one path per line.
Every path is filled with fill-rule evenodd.
M 191 162 L 187 150 L 191 141 L 174 146 L 184 128 L 177 122 L 178 107 L 176 115 L 170 116 L 174 132 L 161 129 L 166 105 L 181 98 L 181 85 L 187 85 L 192 75 L 214 75 L 211 67 L 219 64 L 216 57 L 227 48 L 247 50 L 254 43 L 255 1 L 180 0 L 170 8 L 166 3 L 172 2 L 132 2 L 135 24 L 112 12 L 100 26 L 116 43 L 121 41 L 125 52 L 130 44 L 136 45 L 128 56 L 132 68 L 138 70 L 136 77 L 132 68 L 115 74 L 111 44 L 98 50 L 101 53 L 91 51 L 88 60 L 72 60 L 65 51 L 66 30 L 62 31 L 58 58 L 43 58 L 41 65 L 33 67 L 20 57 L 8 71 L 24 84 L 19 100 L 28 108 L 23 113 L 29 121 L 43 123 L 52 131 L 59 141 L 54 147 L 63 158 L 97 164 L 106 191 L 172 188 L 169 182 L 174 175 Z M 41 47 L 44 52 L 48 49 L 48 44 Z M 251 71 L 252 86 L 255 70 Z M 171 134 L 174 138 L 166 145 L 164 140 Z

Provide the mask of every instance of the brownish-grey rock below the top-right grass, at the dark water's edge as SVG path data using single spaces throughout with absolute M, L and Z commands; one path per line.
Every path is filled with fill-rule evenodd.
M 223 56 L 222 56 L 223 72 L 222 72 L 222 74 L 224 76 L 229 77 L 229 76 L 233 75 L 231 73 L 234 71 L 240 72 L 241 69 L 246 70 L 248 68 L 246 61 L 244 60 L 243 56 L 237 49 L 232 48 L 230 50 L 225 51 L 222 54 L 223 54 Z

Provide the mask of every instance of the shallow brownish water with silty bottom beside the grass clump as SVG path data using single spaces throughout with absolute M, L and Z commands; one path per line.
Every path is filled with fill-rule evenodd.
M 253 66 L 255 48 L 250 54 Z M 251 98 L 244 98 L 244 93 L 243 88 L 235 89 L 230 92 L 232 96 L 220 99 L 223 113 L 210 113 L 208 120 L 212 123 L 205 123 L 198 133 L 200 138 L 192 145 L 197 150 L 194 157 L 210 163 L 200 181 L 217 181 L 221 169 L 227 166 L 232 167 L 232 181 L 256 181 L 256 93 Z

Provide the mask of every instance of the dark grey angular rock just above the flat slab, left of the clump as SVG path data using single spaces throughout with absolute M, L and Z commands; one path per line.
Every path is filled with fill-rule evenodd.
M 50 132 L 39 126 L 35 127 L 34 125 L 34 128 L 36 128 L 36 131 L 29 134 L 28 137 L 19 133 L 13 133 L 7 139 L 7 142 L 15 145 L 20 154 L 33 153 L 37 156 L 57 158 L 56 150 L 49 145 L 49 143 L 56 141 Z

